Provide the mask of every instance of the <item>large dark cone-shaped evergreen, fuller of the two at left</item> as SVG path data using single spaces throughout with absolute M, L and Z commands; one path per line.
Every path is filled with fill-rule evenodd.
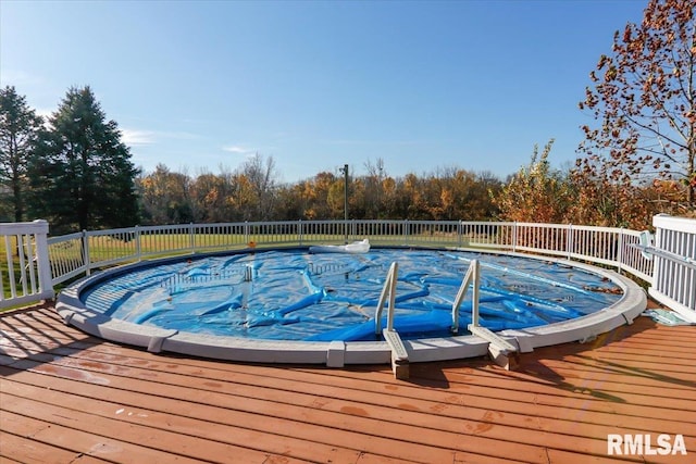
M 138 223 L 138 171 L 89 87 L 71 88 L 32 158 L 32 208 L 55 231 Z

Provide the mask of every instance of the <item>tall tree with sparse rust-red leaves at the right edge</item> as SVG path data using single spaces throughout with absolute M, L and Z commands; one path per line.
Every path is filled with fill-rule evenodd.
M 679 202 L 682 213 L 696 204 L 695 12 L 695 0 L 650 0 L 643 22 L 617 32 L 612 53 L 591 73 L 580 108 L 596 125 L 583 127 L 586 158 L 575 178 L 587 201 L 606 206 L 604 222 L 630 225 L 666 203 Z M 656 179 L 671 185 L 650 204 L 642 193 Z

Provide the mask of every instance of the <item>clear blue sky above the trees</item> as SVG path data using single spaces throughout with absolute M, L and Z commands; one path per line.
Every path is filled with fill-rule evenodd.
M 0 85 L 40 114 L 91 86 L 146 172 L 505 178 L 550 138 L 575 160 L 588 73 L 646 3 L 3 0 Z

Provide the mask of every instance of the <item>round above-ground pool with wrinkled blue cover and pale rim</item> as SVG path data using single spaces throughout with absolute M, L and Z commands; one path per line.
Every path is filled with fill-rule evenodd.
M 89 333 L 153 351 L 169 346 L 181 352 L 171 348 L 192 343 L 200 348 L 192 354 L 209 355 L 208 347 L 212 358 L 237 359 L 235 350 L 252 347 L 256 352 L 261 346 L 291 351 L 323 342 L 347 349 L 350 342 L 381 342 L 375 308 L 389 266 L 397 262 L 394 328 L 413 348 L 430 344 L 426 340 L 465 338 L 471 291 L 460 306 L 458 337 L 452 336 L 451 313 L 473 259 L 481 263 L 480 324 L 504 335 L 592 317 L 614 308 L 631 287 L 589 266 L 519 255 L 391 248 L 358 254 L 246 250 L 99 273 L 64 290 L 57 308 L 66 322 Z M 231 351 L 221 356 L 225 348 Z M 326 347 L 322 350 L 325 359 Z

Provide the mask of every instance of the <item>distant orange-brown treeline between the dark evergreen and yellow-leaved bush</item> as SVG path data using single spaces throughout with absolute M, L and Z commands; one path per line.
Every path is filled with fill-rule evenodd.
M 189 177 L 159 165 L 138 180 L 146 223 L 350 218 L 492 220 L 502 183 L 451 167 L 430 175 L 389 176 L 377 160 L 366 175 L 321 172 L 278 184 L 273 158 L 260 154 L 233 172 Z

